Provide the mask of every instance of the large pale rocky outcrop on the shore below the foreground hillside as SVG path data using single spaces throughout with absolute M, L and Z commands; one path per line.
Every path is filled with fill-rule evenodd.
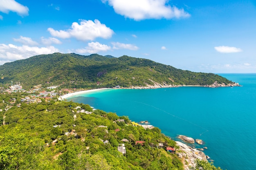
M 189 170 L 189 166 L 195 167 L 195 160 L 200 159 L 207 161 L 204 152 L 193 149 L 180 141 L 175 141 L 179 149 L 176 150 L 177 156 L 182 159 L 184 170 Z

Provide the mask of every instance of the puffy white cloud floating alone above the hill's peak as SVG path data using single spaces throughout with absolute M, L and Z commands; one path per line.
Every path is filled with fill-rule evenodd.
M 56 31 L 52 28 L 48 28 L 50 34 L 58 38 L 76 38 L 77 40 L 88 41 L 95 38 L 111 38 L 114 31 L 107 27 L 105 24 L 101 24 L 99 20 L 79 20 L 80 24 L 73 22 L 71 29 L 66 31 Z

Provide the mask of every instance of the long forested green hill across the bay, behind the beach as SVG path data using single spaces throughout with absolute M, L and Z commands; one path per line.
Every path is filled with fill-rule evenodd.
M 66 88 L 112 88 L 147 85 L 210 85 L 232 83 L 212 73 L 184 71 L 151 60 L 92 54 L 37 55 L 0 66 L 0 84 L 20 82 L 23 88 L 62 84 Z M 46 85 L 46 82 L 50 84 Z

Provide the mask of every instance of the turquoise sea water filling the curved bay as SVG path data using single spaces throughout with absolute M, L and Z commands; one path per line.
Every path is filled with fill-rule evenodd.
M 132 121 L 148 120 L 174 140 L 177 135 L 202 139 L 205 154 L 223 170 L 255 170 L 256 74 L 220 75 L 243 87 L 110 89 L 69 100 Z

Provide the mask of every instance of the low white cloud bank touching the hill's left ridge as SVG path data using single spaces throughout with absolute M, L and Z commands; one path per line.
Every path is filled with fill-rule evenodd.
M 54 46 L 16 46 L 13 44 L 0 44 L 0 63 L 22 60 L 34 55 L 51 54 L 59 52 Z

